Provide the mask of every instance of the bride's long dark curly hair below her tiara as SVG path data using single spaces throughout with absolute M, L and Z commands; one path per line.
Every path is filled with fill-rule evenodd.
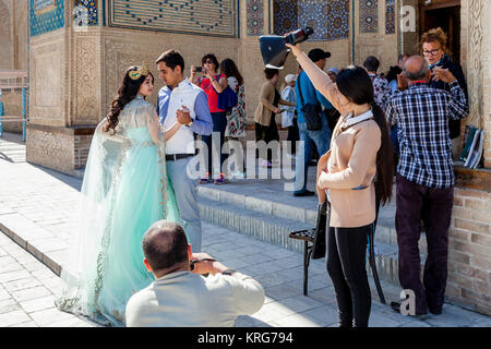
M 121 86 L 118 89 L 118 96 L 115 100 L 111 103 L 111 110 L 106 117 L 106 124 L 103 127 L 103 131 L 107 132 L 109 129 L 112 129 L 112 131 L 116 131 L 116 127 L 119 123 L 119 115 L 121 110 L 124 108 L 127 104 L 129 104 L 131 100 L 133 100 L 134 97 L 136 97 L 136 94 L 139 93 L 140 86 L 143 84 L 147 75 L 142 75 L 137 80 L 132 80 L 130 77 L 131 71 L 139 70 L 140 67 L 132 65 L 127 69 L 124 72 L 124 77 L 121 83 Z M 154 75 L 152 75 L 151 72 L 148 72 L 148 75 L 152 76 L 152 82 L 154 81 Z

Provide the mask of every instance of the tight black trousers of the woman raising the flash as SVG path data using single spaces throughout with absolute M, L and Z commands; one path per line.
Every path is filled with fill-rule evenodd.
M 366 255 L 370 229 L 330 227 L 326 233 L 326 267 L 336 294 L 339 326 L 368 327 L 372 297 Z

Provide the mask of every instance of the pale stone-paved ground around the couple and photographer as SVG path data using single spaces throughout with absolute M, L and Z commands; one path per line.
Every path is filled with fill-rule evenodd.
M 70 232 L 76 228 L 81 180 L 25 163 L 19 148 L 22 144 L 15 137 L 0 140 L 0 326 L 96 326 L 53 304 L 62 281 L 51 269 L 59 270 Z M 203 228 L 204 252 L 265 288 L 263 308 L 240 316 L 238 326 L 337 325 L 336 300 L 323 261 L 312 261 L 304 297 L 301 254 L 207 222 Z M 397 298 L 398 288 L 382 286 L 388 301 Z M 403 316 L 378 302 L 374 287 L 372 292 L 370 326 L 491 327 L 491 317 L 451 304 L 442 315 L 424 321 Z

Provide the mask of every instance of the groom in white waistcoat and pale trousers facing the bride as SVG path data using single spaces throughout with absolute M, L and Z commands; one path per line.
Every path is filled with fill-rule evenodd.
M 181 123 L 177 133 L 166 142 L 167 174 L 176 194 L 183 228 L 193 252 L 201 252 L 202 231 L 197 207 L 197 182 L 189 178 L 187 168 L 195 155 L 194 135 L 209 135 L 213 130 L 206 94 L 184 79 L 184 59 L 168 50 L 156 61 L 159 77 L 166 84 L 158 93 L 157 113 L 164 131 L 176 122 Z

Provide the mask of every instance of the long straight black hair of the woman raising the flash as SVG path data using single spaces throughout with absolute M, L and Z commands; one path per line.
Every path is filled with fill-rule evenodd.
M 394 182 L 393 149 L 384 111 L 375 103 L 372 81 L 361 67 L 344 69 L 336 76 L 339 92 L 356 105 L 372 106 L 373 119 L 381 131 L 381 145 L 376 153 L 375 192 L 382 204 L 388 203 Z

